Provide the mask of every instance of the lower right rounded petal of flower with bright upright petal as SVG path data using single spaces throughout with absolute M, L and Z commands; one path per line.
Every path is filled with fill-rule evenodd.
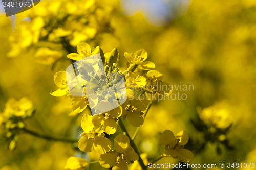
M 93 140 L 93 148 L 101 154 L 107 153 L 111 149 L 111 141 L 103 136 L 95 136 Z

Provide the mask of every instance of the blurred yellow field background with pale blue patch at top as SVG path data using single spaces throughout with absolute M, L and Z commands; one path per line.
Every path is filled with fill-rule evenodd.
M 58 2 L 67 8 L 59 10 Z M 108 15 L 95 12 L 98 18 L 94 21 L 90 21 L 89 15 L 78 13 L 90 11 L 94 5 L 88 8 L 83 8 L 83 5 L 75 0 L 52 0 L 40 2 L 17 16 L 0 16 L 1 112 L 9 98 L 19 100 L 26 96 L 33 101 L 36 109 L 36 114 L 25 121 L 28 129 L 52 136 L 77 137 L 80 133 L 77 129 L 82 114 L 68 116 L 71 108 L 66 107 L 69 106 L 67 101 L 50 95 L 57 89 L 53 81 L 55 72 L 65 70 L 71 64 L 65 57 L 68 52 L 62 50 L 58 41 L 53 43 L 39 39 L 28 42 L 30 40 L 26 37 L 37 33 L 33 30 L 24 33 L 32 27 L 39 29 L 41 35 L 45 30 L 51 30 L 38 26 L 39 21 L 32 26 L 31 19 L 36 16 L 58 20 L 60 15 L 69 13 L 81 16 L 80 20 L 76 20 L 78 23 L 71 20 L 63 26 L 66 30 L 73 29 L 73 47 L 83 41 L 92 46 L 99 45 L 104 52 L 117 48 L 122 67 L 127 62 L 124 52 L 144 48 L 149 55 L 148 60 L 154 62 L 156 69 L 163 74 L 163 81 L 176 87 L 193 85 L 194 90 L 178 88 L 173 91 L 174 94 L 186 94 L 186 100 L 153 103 L 135 139 L 140 152 L 147 153 L 148 161 L 161 155 L 164 147 L 158 143 L 159 136 L 169 129 L 174 134 L 181 130 L 188 132 L 195 154 L 191 164 L 256 163 L 256 1 L 102 1 L 101 6 L 105 7 Z M 96 31 L 91 29 L 82 33 L 81 30 L 88 29 L 83 26 L 88 21 L 82 19 L 92 23 L 86 27 L 97 25 Z M 22 22 L 26 22 L 26 27 Z M 80 30 L 74 31 L 70 28 L 73 25 Z M 57 26 L 49 24 L 47 27 Z M 54 36 L 50 38 L 54 39 Z M 86 38 L 81 38 L 83 36 Z M 56 55 L 57 59 L 35 57 L 41 46 L 61 51 L 62 54 Z M 200 111 L 209 107 L 214 111 L 207 112 L 207 115 Z M 208 127 L 207 132 L 195 126 L 202 122 Z M 212 124 L 215 128 L 232 126 L 224 136 L 217 135 L 210 142 L 206 133 L 215 133 Z M 126 125 L 129 126 L 128 123 Z M 129 126 L 131 134 L 135 130 Z M 228 139 L 229 147 L 221 143 L 223 139 L 220 138 Z M 77 154 L 70 143 L 47 141 L 28 134 L 20 134 L 14 151 L 6 147 L 4 135 L 0 139 L 1 170 L 64 169 L 67 159 Z M 200 148 L 202 143 L 205 145 Z M 90 153 L 89 158 L 97 160 L 98 155 Z M 163 158 L 157 163 L 165 162 L 175 164 L 178 160 Z

